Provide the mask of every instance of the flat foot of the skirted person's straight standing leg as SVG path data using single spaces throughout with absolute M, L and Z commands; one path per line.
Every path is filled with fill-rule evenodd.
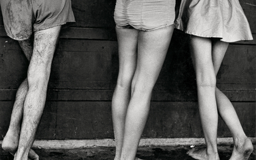
M 187 154 L 193 157 L 194 159 L 198 159 L 198 160 L 220 160 L 218 153 L 207 154 L 206 148 L 200 148 L 200 149 L 192 148 L 187 152 Z

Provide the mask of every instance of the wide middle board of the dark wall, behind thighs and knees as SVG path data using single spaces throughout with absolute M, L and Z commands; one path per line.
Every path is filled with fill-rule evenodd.
M 163 70 L 154 88 L 159 93 L 154 97 L 155 100 L 158 97 L 158 100 L 187 101 L 195 100 L 196 97 L 195 72 L 188 49 L 189 38 L 179 39 L 179 33 L 175 33 L 175 36 L 177 40 L 173 40 L 170 45 Z M 10 38 L 1 38 L 0 45 L 3 46 L 0 53 L 0 88 L 4 91 L 17 89 L 26 77 L 28 62 L 17 42 Z M 256 45 L 232 44 L 228 48 L 217 78 L 220 89 L 230 93 L 234 100 L 255 100 L 255 51 Z M 82 90 L 81 93 L 85 93 L 83 90 L 113 91 L 117 74 L 118 54 L 115 41 L 61 39 L 54 56 L 49 89 L 65 90 L 65 93 L 60 91 L 63 96 L 70 95 L 66 94 L 67 90 L 71 90 L 70 93 L 77 92 L 74 90 Z M 240 96 L 244 93 L 250 96 Z M 10 94 L 13 95 L 6 94 L 7 99 Z M 83 97 L 78 99 L 87 99 L 78 92 L 75 95 Z M 108 93 L 102 93 L 103 97 L 104 95 L 109 97 Z M 101 95 L 98 96 L 97 99 L 100 99 Z

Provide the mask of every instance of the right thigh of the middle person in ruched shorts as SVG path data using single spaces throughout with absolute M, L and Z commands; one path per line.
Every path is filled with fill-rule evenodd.
M 134 75 L 136 83 L 154 86 L 163 66 L 172 33 L 173 25 L 154 31 L 140 31 L 138 62 Z

